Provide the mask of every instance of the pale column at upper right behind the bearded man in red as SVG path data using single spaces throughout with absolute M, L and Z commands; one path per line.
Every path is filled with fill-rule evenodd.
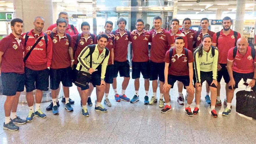
M 236 22 L 235 22 L 235 31 L 243 33 L 243 20 L 245 13 L 245 3 L 246 0 L 237 1 L 237 12 L 236 12 Z

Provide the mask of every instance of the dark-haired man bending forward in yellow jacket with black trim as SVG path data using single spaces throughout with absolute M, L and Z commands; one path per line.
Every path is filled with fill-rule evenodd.
M 95 106 L 95 111 L 107 112 L 101 105 L 101 100 L 105 91 L 105 73 L 106 67 L 109 60 L 109 50 L 106 48 L 108 43 L 107 35 L 100 35 L 97 40 L 98 44 L 89 45 L 85 47 L 78 56 L 79 63 L 77 64 L 76 70 L 79 71 L 81 67 L 81 71 L 88 72 L 91 74 L 90 83 L 96 87 L 97 91 L 97 103 Z M 90 58 L 92 57 L 92 58 Z M 92 65 L 90 67 L 90 59 L 92 60 Z M 81 101 L 82 101 L 82 115 L 89 116 L 87 111 L 86 102 L 88 99 L 89 86 L 85 87 L 77 87 L 81 89 Z

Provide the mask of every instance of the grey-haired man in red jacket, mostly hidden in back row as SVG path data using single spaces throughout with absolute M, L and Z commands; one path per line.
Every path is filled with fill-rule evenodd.
M 74 25 L 68 24 L 68 14 L 67 14 L 66 12 L 60 12 L 58 18 L 59 18 L 59 19 L 60 19 L 60 18 L 63 18 L 63 19 L 65 19 L 65 20 L 67 21 L 67 29 L 66 29 L 65 33 L 68 33 L 68 34 L 71 35 L 71 36 L 72 36 L 72 35 L 79 34 L 79 32 L 77 31 L 77 28 L 74 27 Z M 52 24 L 52 25 L 50 25 L 50 26 L 48 27 L 47 31 L 48 31 L 48 30 L 52 31 L 54 28 L 56 29 L 56 27 L 57 27 L 57 24 Z

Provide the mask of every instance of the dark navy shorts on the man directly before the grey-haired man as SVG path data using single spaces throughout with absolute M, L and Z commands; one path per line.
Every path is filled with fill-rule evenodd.
M 56 90 L 59 88 L 60 83 L 63 86 L 71 87 L 71 67 L 61 68 L 61 69 L 50 69 L 50 88 Z

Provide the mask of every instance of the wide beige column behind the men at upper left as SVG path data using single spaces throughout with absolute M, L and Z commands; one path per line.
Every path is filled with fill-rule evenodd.
M 13 0 L 15 17 L 21 18 L 24 24 L 24 32 L 34 28 L 34 18 L 41 16 L 45 19 L 43 31 L 53 24 L 52 0 Z

